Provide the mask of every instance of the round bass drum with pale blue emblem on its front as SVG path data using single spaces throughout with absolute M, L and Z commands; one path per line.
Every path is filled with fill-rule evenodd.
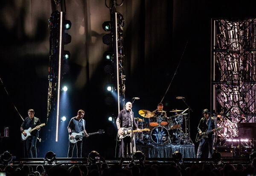
M 169 132 L 163 126 L 157 126 L 153 128 L 150 133 L 152 142 L 155 144 L 165 144 L 169 139 Z

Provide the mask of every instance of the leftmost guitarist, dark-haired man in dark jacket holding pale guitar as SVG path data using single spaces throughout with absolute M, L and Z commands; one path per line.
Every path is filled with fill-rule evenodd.
M 36 141 L 39 136 L 39 130 L 40 127 L 40 120 L 34 116 L 35 111 L 33 109 L 29 109 L 28 111 L 29 116 L 26 117 L 26 119 L 23 121 L 23 123 L 20 126 L 20 132 L 23 133 L 24 136 L 26 136 L 26 132 L 24 130 L 31 128 L 35 128 L 36 130 L 31 132 L 31 136 L 29 136 L 25 143 L 26 143 L 26 153 L 28 158 L 37 158 L 37 150 L 36 150 Z

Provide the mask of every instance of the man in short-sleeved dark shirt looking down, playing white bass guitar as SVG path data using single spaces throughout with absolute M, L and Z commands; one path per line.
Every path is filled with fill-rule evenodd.
M 81 131 L 84 132 L 85 137 L 88 137 L 89 135 L 87 134 L 86 130 L 85 130 L 85 120 L 83 119 L 84 117 L 84 111 L 83 110 L 79 110 L 77 112 L 77 116 L 73 117 L 70 119 L 70 122 L 67 126 L 67 131 L 70 135 L 70 138 L 74 138 L 74 136 L 72 135 L 72 133 L 80 133 Z M 68 145 L 68 153 L 67 153 L 67 157 L 68 158 L 72 158 L 73 157 L 73 150 L 74 147 L 76 145 L 76 149 L 77 149 L 77 157 L 81 158 L 82 157 L 82 145 L 83 145 L 83 141 L 78 141 L 76 143 L 71 143 L 69 141 L 69 145 Z

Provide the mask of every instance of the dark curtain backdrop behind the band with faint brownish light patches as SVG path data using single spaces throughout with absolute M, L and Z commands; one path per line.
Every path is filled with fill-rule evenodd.
M 42 128 L 38 142 L 38 156 L 54 150 L 57 157 L 67 155 L 67 123 L 84 109 L 87 131 L 106 131 L 103 135 L 84 140 L 84 156 L 91 150 L 111 158 L 115 153 L 116 128 L 107 118 L 117 115 L 116 107 L 105 105 L 105 84 L 111 81 L 103 71 L 102 43 L 106 32 L 102 23 L 110 20 L 110 11 L 104 0 L 66 0 L 66 19 L 72 27 L 68 33 L 72 42 L 65 45 L 70 51 L 70 72 L 63 84 L 69 86 L 65 103 L 61 104 L 59 142 L 46 140 L 48 128 Z M 175 70 L 183 58 L 169 91 L 163 99 L 164 110 L 186 109 L 175 97 L 186 97 L 191 106 L 191 137 L 194 141 L 201 111 L 210 108 L 211 91 L 211 18 L 255 17 L 253 0 L 124 0 L 117 7 L 125 19 L 124 48 L 126 75 L 126 102 L 136 100 L 133 110 L 153 111 L 165 94 Z M 1 0 L 0 2 L 0 133 L 9 127 L 8 146 L 3 150 L 23 157 L 20 140 L 22 120 L 14 108 L 25 118 L 33 108 L 35 116 L 46 122 L 49 62 L 48 19 L 50 0 Z M 185 45 L 187 43 L 186 49 Z M 9 95 L 6 94 L 4 86 Z M 14 103 L 14 105 L 12 104 Z M 171 116 L 171 113 L 167 113 Z M 54 135 L 54 127 L 51 128 Z M 1 142 L 3 144 L 3 142 Z M 195 144 L 197 146 L 197 144 Z M 61 146 L 61 147 L 60 147 Z

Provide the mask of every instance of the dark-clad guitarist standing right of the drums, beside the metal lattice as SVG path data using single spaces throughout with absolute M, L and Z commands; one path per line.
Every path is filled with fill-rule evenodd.
M 215 120 L 213 117 L 210 116 L 211 114 L 208 109 L 204 109 L 202 114 L 204 117 L 201 118 L 198 125 L 199 135 L 201 136 L 203 132 L 210 131 L 210 130 L 212 130 L 212 132 L 207 134 L 207 136 L 200 141 L 198 146 L 197 158 L 201 158 L 202 151 L 206 142 L 208 142 L 208 148 L 209 148 L 208 158 L 212 158 L 213 139 L 214 139 L 213 132 L 215 132 L 215 129 L 216 129 Z

